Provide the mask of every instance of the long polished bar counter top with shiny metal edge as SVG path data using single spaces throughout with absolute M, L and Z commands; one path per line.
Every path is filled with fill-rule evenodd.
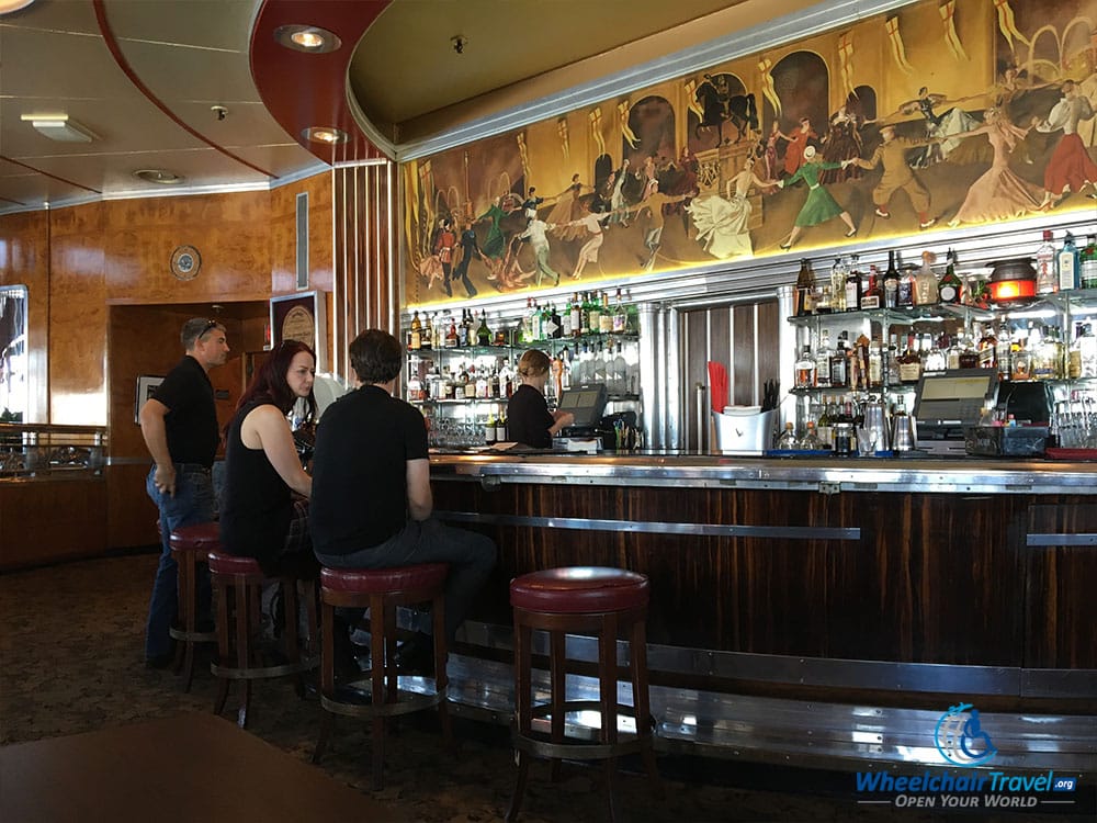
M 767 458 L 695 452 L 432 452 L 436 477 L 485 484 L 740 487 L 835 492 L 1094 494 L 1097 462 L 1044 458 Z

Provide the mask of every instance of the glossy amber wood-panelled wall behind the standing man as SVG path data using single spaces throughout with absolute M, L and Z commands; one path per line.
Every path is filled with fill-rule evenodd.
M 383 192 L 381 202 L 387 204 L 391 176 L 381 168 L 381 184 L 370 190 Z M 179 330 L 188 317 L 218 317 L 228 329 L 233 359 L 211 376 L 229 393 L 218 409 L 227 419 L 244 387 L 248 352 L 263 347 L 270 297 L 295 291 L 299 192 L 308 192 L 309 201 L 309 289 L 328 293 L 332 316 L 331 191 L 332 174 L 325 172 L 271 191 L 105 201 L 0 216 L 0 283 L 30 289 L 30 419 L 110 429 L 110 456 L 117 464 L 108 469 L 101 507 L 110 548 L 156 542 L 155 509 L 144 491 L 147 452 L 134 424 L 136 375 L 163 374 L 179 360 Z M 363 238 L 359 247 L 371 253 L 369 266 L 348 270 L 352 278 L 387 278 L 387 211 L 371 214 L 381 240 L 374 224 L 355 229 Z M 171 252 L 181 245 L 202 256 L 193 280 L 171 273 Z M 343 282 L 340 289 L 392 293 L 387 280 Z M 375 309 L 376 301 L 370 305 Z M 395 307 L 386 312 L 395 317 Z M 329 362 L 330 357 L 329 348 Z

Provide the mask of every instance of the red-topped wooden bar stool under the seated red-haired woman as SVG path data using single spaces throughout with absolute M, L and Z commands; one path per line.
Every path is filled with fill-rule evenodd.
M 223 552 L 210 552 L 210 575 L 217 601 L 217 662 L 210 669 L 219 680 L 214 714 L 220 714 L 234 680 L 240 683 L 237 724 L 244 729 L 251 703 L 251 681 L 270 677 L 296 677 L 297 696 L 304 697 L 302 672 L 319 665 L 315 653 L 318 636 L 316 623 L 316 582 L 293 575 L 279 578 L 282 588 L 282 638 L 285 662 L 267 665 L 259 642 L 263 584 L 270 578 L 252 557 L 237 557 Z M 305 601 L 308 620 L 308 647 L 303 654 L 297 632 L 298 591 Z

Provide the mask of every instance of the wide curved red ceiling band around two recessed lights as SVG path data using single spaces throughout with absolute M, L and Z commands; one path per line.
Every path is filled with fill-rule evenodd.
M 384 158 L 362 133 L 347 102 L 347 72 L 358 42 L 392 0 L 264 0 L 251 31 L 251 78 L 290 136 L 327 164 Z M 283 25 L 314 25 L 339 36 L 340 48 L 306 54 L 280 45 Z M 328 146 L 301 136 L 313 126 L 335 126 L 346 143 Z

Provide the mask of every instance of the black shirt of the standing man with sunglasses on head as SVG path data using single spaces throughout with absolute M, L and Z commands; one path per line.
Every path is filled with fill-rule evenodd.
M 213 383 L 197 360 L 185 354 L 152 397 L 168 407 L 163 416 L 173 463 L 213 465 L 220 443 Z

